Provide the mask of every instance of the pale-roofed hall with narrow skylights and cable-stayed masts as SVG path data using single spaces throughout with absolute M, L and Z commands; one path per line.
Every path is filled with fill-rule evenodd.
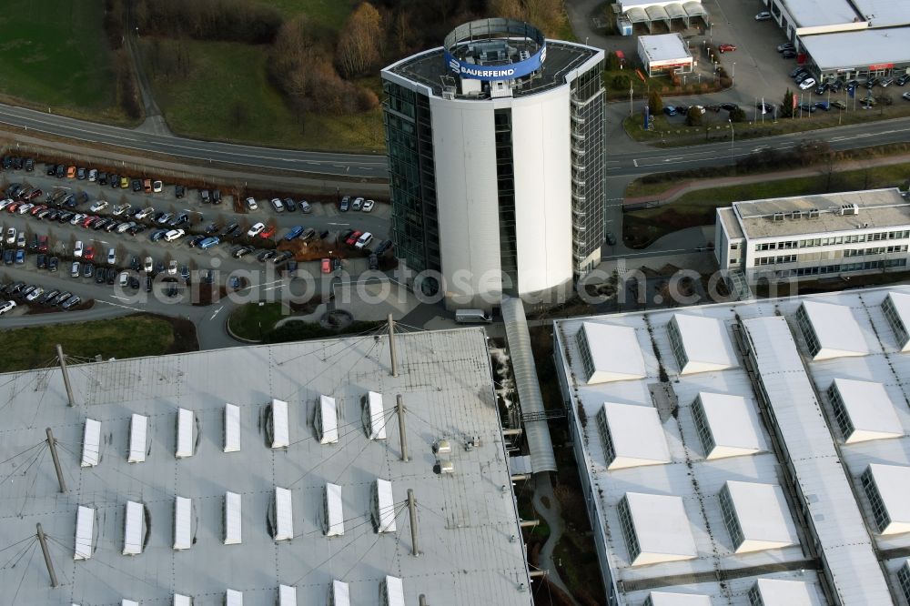
M 0 375 L 0 601 L 530 606 L 483 330 L 396 349 L 70 364 L 73 406 L 59 367 Z

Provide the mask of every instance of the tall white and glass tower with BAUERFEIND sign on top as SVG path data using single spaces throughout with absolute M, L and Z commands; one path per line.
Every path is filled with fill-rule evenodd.
M 485 19 L 382 70 L 410 286 L 449 308 L 558 303 L 600 261 L 602 63 L 600 49 Z

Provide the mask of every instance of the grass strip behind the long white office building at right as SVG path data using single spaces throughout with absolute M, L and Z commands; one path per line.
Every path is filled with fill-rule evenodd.
M 811 177 L 760 181 L 738 186 L 698 189 L 661 207 L 623 213 L 622 239 L 626 246 L 644 248 L 659 237 L 686 227 L 712 225 L 714 210 L 737 200 L 806 196 L 833 191 L 854 191 L 904 185 L 910 165 L 895 164 Z

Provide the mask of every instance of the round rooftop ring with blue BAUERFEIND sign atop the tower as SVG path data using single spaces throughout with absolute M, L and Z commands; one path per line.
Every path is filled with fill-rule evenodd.
M 446 36 L 445 60 L 452 72 L 473 80 L 514 80 L 541 69 L 547 40 L 533 25 L 516 19 L 480 19 Z

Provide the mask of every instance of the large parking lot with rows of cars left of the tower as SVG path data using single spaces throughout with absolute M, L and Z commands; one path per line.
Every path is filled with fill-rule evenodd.
M 300 232 L 300 227 L 311 228 L 308 230 L 311 239 L 303 245 L 299 241 L 293 243 L 298 246 L 298 251 L 306 252 L 308 248 L 313 248 L 320 255 L 334 261 L 330 266 L 332 273 L 340 268 L 353 276 L 368 268 L 369 248 L 378 246 L 388 234 L 389 206 L 386 204 L 376 204 L 369 213 L 354 210 L 343 213 L 338 205 L 313 202 L 309 213 L 300 212 L 299 209 L 278 213 L 268 199 L 258 197 L 257 210 L 237 212 L 234 200 L 229 196 L 224 196 L 220 205 L 204 203 L 200 192 L 195 189 L 187 189 L 183 197 L 177 198 L 174 184 L 163 184 L 160 192 L 147 193 L 143 187 L 136 192 L 132 187 L 114 188 L 91 182 L 87 178 L 87 170 L 86 178 L 81 180 L 75 177 L 50 177 L 46 173 L 47 168 L 41 164 L 35 164 L 31 172 L 26 172 L 24 167 L 18 170 L 12 166 L 5 168 L 3 189 L 6 191 L 13 184 L 21 185 L 25 191 L 27 187 L 40 188 L 41 193 L 27 202 L 46 205 L 45 210 L 65 210 L 86 214 L 88 217 L 96 216 L 98 218 L 95 224 L 106 218 L 108 226 L 114 222 L 125 227 L 135 224 L 144 227 L 144 230 L 131 235 L 126 229 L 107 231 L 104 227 L 83 227 L 88 217 L 75 225 L 71 219 L 61 222 L 53 215 L 39 218 L 33 214 L 34 207 L 21 212 L 26 200 L 17 199 L 19 205 L 14 212 L 9 212 L 9 207 L 13 207 L 9 204 L 0 211 L 4 249 L 4 254 L 0 257 L 4 263 L 3 285 L 24 281 L 45 288 L 45 292 L 52 289 L 71 290 L 84 300 L 110 298 L 111 292 L 116 291 L 119 296 L 115 298 L 125 300 L 136 298 L 135 295 L 140 293 L 148 293 L 148 296 L 157 298 L 163 296 L 166 302 L 189 303 L 194 299 L 198 302 L 200 295 L 198 288 L 192 288 L 194 286 L 215 292 L 220 290 L 221 294 L 227 288 L 259 295 L 262 290 L 277 288 L 275 285 L 288 278 L 291 278 L 290 282 L 299 279 L 294 276 L 308 275 L 317 278 L 317 281 L 320 276 L 328 278 L 319 258 L 301 261 L 296 264 L 296 268 L 294 262 L 276 264 L 263 259 L 276 254 L 276 245 L 294 227 L 298 227 L 294 233 Z M 70 205 L 76 200 L 72 200 L 69 205 L 61 205 L 67 194 L 78 196 L 83 193 L 86 196 L 75 207 Z M 350 192 L 350 195 L 351 200 L 357 197 L 356 192 Z M 19 196 L 23 194 L 20 193 Z M 55 197 L 56 204 L 50 202 L 49 197 Z M 99 201 L 106 202 L 106 206 L 97 204 Z M 126 205 L 129 207 L 126 208 Z M 92 212 L 89 208 L 93 206 L 105 207 Z M 147 217 L 129 217 L 130 214 L 147 208 L 153 209 Z M 155 217 L 162 214 L 171 215 L 172 220 L 186 215 L 186 219 L 177 226 L 168 226 L 167 221 L 164 224 L 155 223 Z M 51 218 L 53 220 L 48 220 Z M 225 236 L 226 227 L 235 223 L 237 227 L 233 233 Z M 256 224 L 262 225 L 256 227 L 254 232 L 261 233 L 248 236 L 249 229 Z M 140 227 L 133 227 L 133 230 L 138 228 Z M 172 229 L 183 230 L 184 234 L 175 237 L 173 241 L 167 241 L 162 237 L 163 232 Z M 363 249 L 348 246 L 344 244 L 343 237 L 352 230 L 369 231 L 374 237 Z M 123 233 L 117 233 L 118 231 Z M 153 241 L 152 236 L 156 231 L 162 233 Z M 261 237 L 263 233 L 269 237 Z M 303 235 L 307 236 L 308 233 Z M 197 241 L 207 236 L 219 237 L 220 241 L 213 247 L 200 249 L 190 246 L 195 235 L 198 235 Z M 8 237 L 11 237 L 9 241 Z M 232 252 L 237 252 L 241 246 L 248 247 L 249 252 L 242 258 L 235 258 Z M 111 253 L 113 257 L 108 258 Z M 389 254 L 386 252 L 387 256 Z M 301 257 L 311 258 L 312 255 Z M 73 274 L 74 262 L 79 263 L 78 276 Z M 50 267 L 52 264 L 56 266 L 53 270 Z M 91 266 L 91 269 L 86 269 L 86 266 Z M 147 266 L 150 266 L 150 271 Z M 153 278 L 151 284 L 147 278 Z M 203 299 L 206 297 L 205 294 L 201 296 Z M 13 313 L 22 312 L 20 309 Z

